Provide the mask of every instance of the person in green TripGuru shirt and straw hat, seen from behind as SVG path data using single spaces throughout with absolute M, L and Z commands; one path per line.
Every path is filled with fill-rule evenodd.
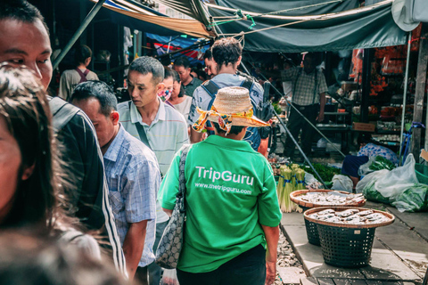
M 185 161 L 185 244 L 177 265 L 181 285 L 272 284 L 281 212 L 268 160 L 243 136 L 248 127 L 268 126 L 253 116 L 248 89 L 225 87 L 211 110 L 215 135 L 192 145 Z M 159 200 L 172 213 L 179 188 L 180 153 L 161 183 Z M 265 249 L 266 248 L 266 249 Z

